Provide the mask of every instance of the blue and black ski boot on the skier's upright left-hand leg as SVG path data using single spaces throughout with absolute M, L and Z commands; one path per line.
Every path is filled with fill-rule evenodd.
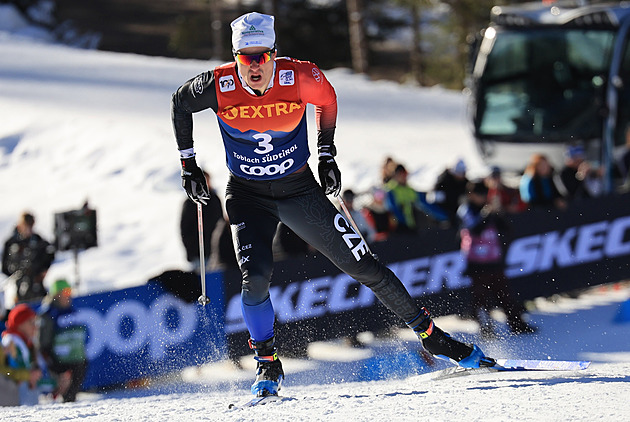
M 252 385 L 252 394 L 257 397 L 277 396 L 284 379 L 282 363 L 278 359 L 274 338 L 262 342 L 249 340 L 249 347 L 256 352 L 256 381 Z

